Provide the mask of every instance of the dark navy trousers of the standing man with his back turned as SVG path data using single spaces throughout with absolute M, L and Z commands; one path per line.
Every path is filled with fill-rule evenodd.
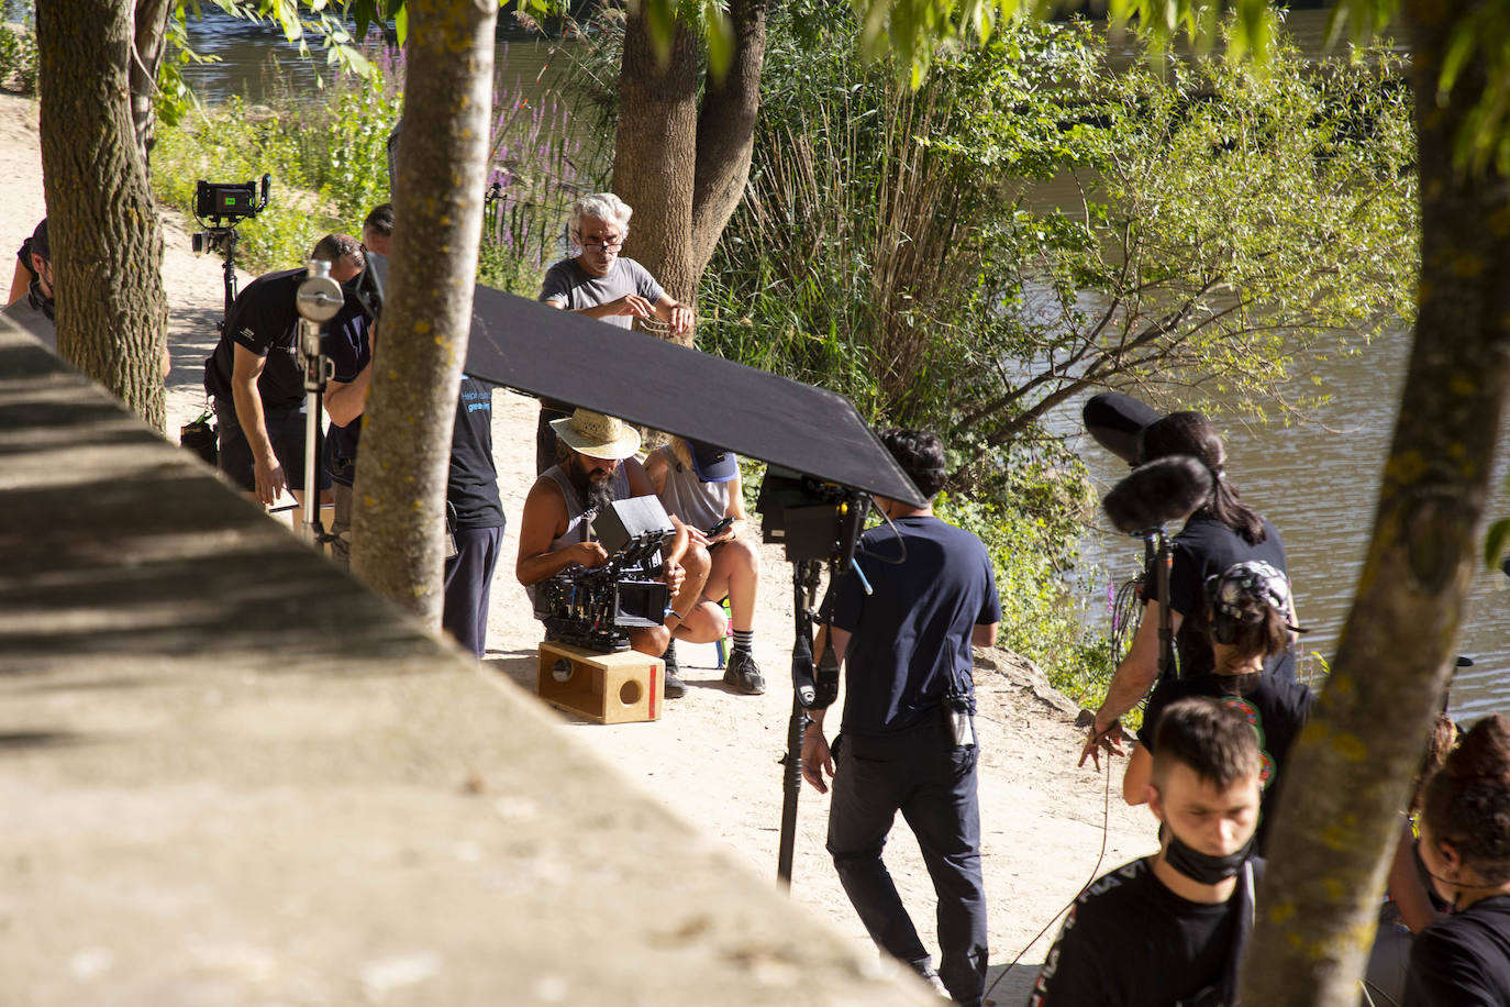
M 942 716 L 886 737 L 844 735 L 829 802 L 829 853 L 876 945 L 920 972 L 929 953 L 880 859 L 900 811 L 938 894 L 939 978 L 960 1004 L 986 986 L 986 889 L 980 874 L 975 746 L 956 746 Z

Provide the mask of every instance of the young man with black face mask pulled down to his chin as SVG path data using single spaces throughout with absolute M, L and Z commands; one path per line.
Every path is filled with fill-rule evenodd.
M 1028 1007 L 1234 1004 L 1262 868 L 1258 803 L 1253 728 L 1211 699 L 1170 704 L 1148 785 L 1160 850 L 1081 892 Z

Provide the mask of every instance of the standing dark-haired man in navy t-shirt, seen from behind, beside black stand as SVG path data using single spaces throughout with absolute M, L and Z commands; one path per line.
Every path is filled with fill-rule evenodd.
M 844 669 L 843 743 L 830 752 L 823 713 L 802 743 L 802 774 L 826 793 L 827 848 L 846 894 L 876 945 L 960 1004 L 986 984 L 986 891 L 980 874 L 980 805 L 974 655 L 997 640 L 1001 602 L 991 556 L 969 531 L 933 516 L 944 488 L 944 444 L 924 430 L 888 430 L 882 442 L 929 500 L 914 507 L 876 498 L 889 519 L 861 536 L 853 574 L 829 589 L 820 630 Z M 939 969 L 882 862 L 897 811 L 917 835 L 938 894 Z

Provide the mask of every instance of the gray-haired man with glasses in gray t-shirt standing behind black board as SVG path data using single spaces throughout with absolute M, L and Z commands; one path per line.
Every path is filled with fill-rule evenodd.
M 681 335 L 692 329 L 692 308 L 661 290 L 649 270 L 633 258 L 619 257 L 624 239 L 630 234 L 633 213 L 612 192 L 583 196 L 572 204 L 568 231 L 581 252 L 547 270 L 541 300 L 621 329 L 634 328 L 634 319 L 655 317 L 673 335 Z M 569 409 L 562 402 L 541 403 L 541 423 L 535 438 L 538 473 L 556 463 L 556 433 L 550 424 L 551 420 L 566 418 Z

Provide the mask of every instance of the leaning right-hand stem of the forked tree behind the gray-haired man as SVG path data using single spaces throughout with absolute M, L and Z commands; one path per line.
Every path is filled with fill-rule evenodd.
M 702 278 L 723 226 L 744 198 L 755 149 L 760 79 L 766 62 L 766 0 L 732 0 L 734 59 L 719 82 L 710 72 L 698 115 L 698 169 L 692 193 L 692 275 Z

